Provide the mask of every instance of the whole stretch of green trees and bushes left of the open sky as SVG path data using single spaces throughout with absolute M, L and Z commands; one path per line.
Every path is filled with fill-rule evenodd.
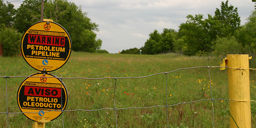
M 0 0 L 0 42 L 4 56 L 13 56 L 19 52 L 22 34 L 32 24 L 40 21 L 40 17 L 41 0 L 25 0 L 17 9 L 13 4 Z M 81 6 L 67 0 L 45 0 L 43 17 L 52 19 L 67 30 L 73 51 L 107 52 L 100 50 L 102 40 L 95 33 L 99 31 L 98 25 L 91 22 L 87 13 L 82 12 Z

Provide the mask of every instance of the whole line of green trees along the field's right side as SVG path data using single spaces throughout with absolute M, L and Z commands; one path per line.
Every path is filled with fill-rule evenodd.
M 255 2 L 255 0 L 252 0 Z M 244 25 L 237 8 L 222 2 L 214 15 L 204 18 L 202 14 L 187 15 L 186 22 L 179 30 L 164 28 L 149 34 L 149 39 L 141 48 L 123 50 L 124 54 L 181 53 L 183 55 L 225 56 L 226 54 L 256 55 L 256 10 Z M 255 6 L 256 7 L 256 6 Z M 255 61 L 255 60 L 254 60 Z

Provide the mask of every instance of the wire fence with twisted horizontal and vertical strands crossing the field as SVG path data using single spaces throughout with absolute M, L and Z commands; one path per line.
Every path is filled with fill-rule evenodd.
M 168 123 L 168 107 L 172 107 L 172 106 L 177 106 L 180 104 L 189 104 L 189 103 L 194 103 L 194 102 L 199 102 L 199 101 L 211 101 L 212 102 L 212 122 L 213 122 L 213 128 L 215 127 L 215 123 L 214 123 L 214 102 L 215 100 L 228 100 L 228 101 L 241 101 L 241 100 L 232 100 L 232 99 L 213 99 L 213 94 L 212 94 L 212 85 L 210 82 L 210 93 L 211 93 L 211 99 L 201 99 L 198 101 L 191 101 L 191 102 L 180 102 L 178 104 L 173 104 L 173 105 L 168 105 L 168 100 L 167 100 L 167 87 L 168 87 L 168 78 L 167 78 L 167 74 L 171 73 L 171 72 L 175 72 L 178 70 L 188 70 L 188 69 L 195 69 L 195 68 L 208 68 L 208 72 L 209 72 L 209 80 L 211 80 L 211 75 L 210 75 L 210 68 L 231 68 L 231 69 L 237 69 L 237 70 L 256 70 L 256 69 L 252 69 L 252 68 L 232 68 L 232 67 L 226 67 L 226 66 L 198 66 L 198 67 L 191 67 L 191 68 L 182 68 L 182 69 L 177 69 L 177 70 L 173 70 L 173 71 L 169 71 L 169 72 L 164 72 L 164 73 L 155 73 L 149 76 L 142 76 L 142 77 L 103 77 L 103 78 L 84 78 L 84 77 L 75 77 L 75 78 L 62 78 L 62 77 L 45 77 L 45 78 L 58 78 L 61 80 L 61 86 L 62 85 L 62 80 L 63 79 L 88 79 L 88 80 L 100 80 L 100 79 L 115 79 L 115 87 L 114 87 L 114 108 L 101 108 L 101 109 L 95 109 L 95 110 L 82 110 L 82 109 L 76 109 L 76 110 L 63 110 L 63 105 L 62 105 L 62 101 L 61 101 L 61 110 L 50 110 L 50 111 L 46 111 L 44 113 L 48 113 L 51 111 L 56 111 L 56 112 L 62 112 L 62 125 L 64 127 L 64 116 L 63 116 L 63 112 L 71 112 L 71 111 L 100 111 L 100 110 L 114 110 L 115 111 L 115 122 L 116 122 L 116 127 L 118 128 L 118 123 L 117 123 L 117 110 L 122 110 L 122 109 L 145 109 L 145 108 L 153 108 L 153 107 L 166 107 L 166 121 L 167 121 L 167 126 L 169 128 L 169 123 Z M 159 74 L 165 74 L 166 75 L 166 106 L 151 106 L 151 107 L 126 107 L 126 108 L 116 108 L 116 104 L 115 104 L 115 93 L 116 93 L 116 83 L 117 83 L 117 79 L 127 79 L 127 78 L 145 78 L 145 77 L 150 77 L 150 76 L 155 76 L 155 75 L 159 75 Z M 6 82 L 6 112 L 0 112 L 1 114 L 6 114 L 6 118 L 7 118 L 7 126 L 9 128 L 9 121 L 8 121 L 8 115 L 9 114 L 22 114 L 22 113 L 29 113 L 29 112 L 20 112 L 20 113 L 9 113 L 8 112 L 8 100 L 7 100 L 7 78 L 17 78 L 17 77 L 35 77 L 35 78 L 41 78 L 40 76 L 0 76 L 2 78 L 5 78 L 5 82 Z M 61 88 L 62 88 L 61 87 Z M 61 100 L 62 100 L 62 93 L 61 93 Z M 246 100 L 244 102 L 249 102 L 249 101 L 253 101 L 253 100 Z M 253 101 L 256 102 L 256 101 Z M 40 113 L 40 112 L 38 112 Z

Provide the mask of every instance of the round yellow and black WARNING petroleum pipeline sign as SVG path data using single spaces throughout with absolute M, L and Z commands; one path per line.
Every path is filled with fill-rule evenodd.
M 68 32 L 55 22 L 40 21 L 23 34 L 21 53 L 27 64 L 42 72 L 62 67 L 70 57 L 72 43 Z

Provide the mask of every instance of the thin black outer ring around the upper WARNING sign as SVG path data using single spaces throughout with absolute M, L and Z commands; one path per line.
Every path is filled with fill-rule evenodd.
M 32 24 L 30 27 L 32 27 L 33 25 L 35 25 L 35 24 L 37 24 L 37 23 L 40 23 L 40 22 L 47 22 L 47 21 L 39 21 L 39 22 L 36 22 L 36 23 Z M 69 36 L 69 33 L 66 31 L 66 29 L 65 29 L 64 27 L 62 27 L 60 24 L 58 24 L 58 23 L 56 23 L 56 22 L 51 22 L 51 21 L 49 21 L 49 22 L 50 22 L 50 23 L 54 23 L 54 24 L 58 25 L 59 27 L 61 27 L 61 28 L 67 33 L 68 38 L 69 38 L 69 40 L 70 40 L 70 54 L 69 54 L 69 56 L 67 57 L 66 62 L 65 62 L 64 64 L 62 64 L 60 67 L 58 67 L 57 69 L 55 69 L 55 70 L 58 70 L 58 69 L 61 68 L 63 65 L 65 65 L 65 64 L 67 63 L 67 61 L 69 60 L 69 58 L 70 58 L 71 51 L 72 51 L 72 41 L 71 41 L 71 38 L 70 38 L 70 36 Z M 30 28 L 30 27 L 29 27 L 29 28 Z M 27 30 L 28 30 L 29 28 L 27 28 Z M 25 33 L 27 32 L 27 30 L 26 30 L 26 31 L 24 32 L 24 34 L 22 35 L 22 38 L 21 38 L 21 46 L 22 46 L 22 44 L 23 44 L 22 39 L 23 39 L 23 37 L 25 36 Z M 30 67 L 32 67 L 32 66 L 27 62 L 27 60 L 25 59 L 25 57 L 23 56 L 23 52 L 22 52 L 22 51 L 23 51 L 23 50 L 22 50 L 22 48 L 21 48 L 21 54 L 22 54 L 23 59 L 26 61 L 26 63 L 27 63 Z M 35 69 L 35 70 L 38 70 L 38 69 L 36 69 L 36 68 L 34 68 L 34 67 L 32 67 L 32 68 Z M 55 70 L 50 70 L 50 71 L 46 71 L 46 72 L 51 72 L 51 71 L 55 71 Z M 43 70 L 38 70 L 38 71 L 45 72 L 45 71 L 43 71 Z

